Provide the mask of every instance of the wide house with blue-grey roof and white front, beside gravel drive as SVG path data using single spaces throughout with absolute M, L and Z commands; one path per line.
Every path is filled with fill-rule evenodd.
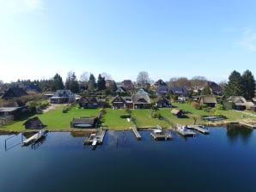
M 70 90 L 57 90 L 50 98 L 52 104 L 68 104 L 75 101 L 75 94 Z

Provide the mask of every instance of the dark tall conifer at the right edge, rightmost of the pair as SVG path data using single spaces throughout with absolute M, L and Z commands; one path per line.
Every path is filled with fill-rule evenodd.
M 241 76 L 242 80 L 242 96 L 245 99 L 252 99 L 255 92 L 255 79 L 253 74 L 248 69 Z

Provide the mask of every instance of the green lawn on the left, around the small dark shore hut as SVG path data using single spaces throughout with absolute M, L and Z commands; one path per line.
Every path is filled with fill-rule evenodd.
M 57 110 L 35 115 L 34 117 L 39 117 L 49 130 L 70 130 L 70 122 L 73 117 L 89 117 L 99 114 L 99 109 L 77 109 L 77 107 L 74 107 L 67 113 L 63 113 L 62 110 L 63 108 L 61 107 Z M 3 126 L 1 129 L 22 131 L 25 130 L 24 125 L 22 125 L 25 121 L 14 122 Z

